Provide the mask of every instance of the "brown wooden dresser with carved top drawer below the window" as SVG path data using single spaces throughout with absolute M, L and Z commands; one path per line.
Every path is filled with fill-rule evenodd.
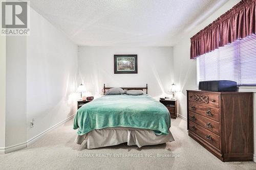
M 251 92 L 187 90 L 188 135 L 222 161 L 252 161 Z

